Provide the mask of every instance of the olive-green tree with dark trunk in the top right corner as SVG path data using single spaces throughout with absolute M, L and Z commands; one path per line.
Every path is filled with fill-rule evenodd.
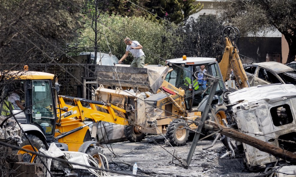
M 278 29 L 289 45 L 288 63 L 296 55 L 296 1 L 294 0 L 222 0 L 217 1 L 222 18 L 242 34 Z

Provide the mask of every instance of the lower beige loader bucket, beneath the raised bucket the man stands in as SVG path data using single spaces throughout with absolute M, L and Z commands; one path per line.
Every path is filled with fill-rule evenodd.
M 144 97 L 139 91 L 133 93 L 119 88 L 115 90 L 107 89 L 100 85 L 96 89 L 96 100 L 104 101 L 126 110 L 129 123 L 140 127 L 148 127 L 147 121 L 156 120 L 163 112 L 158 108 L 145 104 Z M 121 115 L 121 117 L 124 117 L 124 115 Z

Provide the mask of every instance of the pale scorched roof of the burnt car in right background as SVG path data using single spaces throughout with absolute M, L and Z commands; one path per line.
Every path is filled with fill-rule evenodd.
M 251 65 L 247 65 L 247 66 L 244 66 L 244 67 L 250 67 L 252 65 L 257 65 L 257 66 L 260 66 L 260 67 L 268 69 L 268 70 L 273 70 L 275 73 L 283 73 L 283 72 L 286 72 L 286 71 L 294 70 L 293 68 L 291 68 L 291 67 L 289 67 L 287 65 L 284 65 L 282 63 L 278 63 L 278 62 L 275 62 L 275 61 L 262 62 L 262 63 L 253 63 Z

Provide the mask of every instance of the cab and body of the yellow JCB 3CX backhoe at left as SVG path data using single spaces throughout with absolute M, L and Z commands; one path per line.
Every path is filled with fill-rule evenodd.
M 15 117 L 21 123 L 22 129 L 27 134 L 28 139 L 23 136 L 19 146 L 24 150 L 17 153 L 23 155 L 23 161 L 34 162 L 36 156 L 25 150 L 38 151 L 40 148 L 48 150 L 51 143 L 65 151 L 78 151 L 90 154 L 102 166 L 102 158 L 99 153 L 102 150 L 96 146 L 89 131 L 81 119 L 71 116 L 67 112 L 67 107 L 62 108 L 55 104 L 55 96 L 52 87 L 53 74 L 34 71 L 9 71 L 1 73 L 8 82 L 1 82 L 1 116 Z M 11 83 L 11 84 L 10 84 Z M 16 88 L 17 87 L 17 88 Z M 56 84 L 58 87 L 58 84 Z M 20 100 L 24 102 L 25 110 L 16 109 L 7 101 L 9 91 L 20 89 Z M 58 90 L 58 88 L 57 88 Z M 61 103 L 61 97 L 59 97 Z M 56 107 L 58 106 L 58 107 Z M 80 104 L 81 106 L 81 104 Z M 82 106 L 81 106 L 82 109 Z M 64 119 L 60 119 L 60 114 Z M 77 112 L 77 111 L 76 111 Z M 83 111 L 82 111 L 83 112 Z M 68 113 L 68 114 L 67 114 Z M 79 111 L 78 113 L 81 113 Z M 67 117 L 68 116 L 68 117 Z M 67 118 L 66 118 L 67 117 Z M 92 122 L 94 123 L 94 122 Z M 92 124 L 90 123 L 90 124 Z M 31 146 L 33 144 L 33 147 Z

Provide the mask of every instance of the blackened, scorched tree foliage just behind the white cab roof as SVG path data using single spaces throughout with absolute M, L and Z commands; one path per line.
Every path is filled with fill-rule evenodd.
M 177 43 L 174 56 L 196 56 L 221 59 L 224 50 L 223 25 L 215 16 L 190 18 L 179 27 L 177 35 L 182 42 Z

